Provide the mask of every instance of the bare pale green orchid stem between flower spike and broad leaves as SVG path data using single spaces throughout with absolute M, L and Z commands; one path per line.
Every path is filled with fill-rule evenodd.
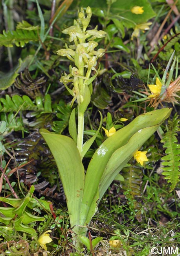
M 78 128 L 77 128 L 77 148 L 81 155 L 83 147 L 83 134 L 84 134 L 84 113 L 79 111 L 78 108 Z

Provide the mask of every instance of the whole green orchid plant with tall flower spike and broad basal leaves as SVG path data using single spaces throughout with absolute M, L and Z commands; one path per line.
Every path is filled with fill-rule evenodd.
M 96 67 L 97 59 L 105 52 L 104 49 L 97 49 L 96 39 L 106 35 L 104 31 L 98 31 L 97 27 L 88 30 L 91 16 L 90 7 L 86 8 L 86 13 L 81 8 L 73 26 L 62 31 L 70 36 L 69 41 L 72 45 L 65 45 L 65 49 L 57 51 L 57 54 L 66 56 L 74 63 L 74 66 L 70 65 L 70 73 L 64 73 L 60 79 L 73 97 L 71 106 L 77 102 L 77 124 L 76 108 L 72 109 L 69 120 L 69 134 L 72 138 L 45 129 L 40 130 L 59 169 L 72 228 L 72 239 L 78 250 L 82 248 L 82 236 L 86 236 L 99 201 L 112 181 L 133 156 L 141 164 L 147 161 L 145 152 L 140 153 L 139 149 L 171 113 L 169 108 L 159 109 L 136 117 L 118 131 L 112 128 L 109 131 L 104 129 L 108 138 L 97 148 L 85 171 L 84 155 L 96 139 L 103 122 L 102 114 L 99 112 L 99 128 L 84 142 L 84 114 L 90 103 L 92 82 L 100 69 L 100 65 Z M 92 70 L 94 75 L 91 75 Z M 69 83 L 73 85 L 72 89 L 68 86 Z

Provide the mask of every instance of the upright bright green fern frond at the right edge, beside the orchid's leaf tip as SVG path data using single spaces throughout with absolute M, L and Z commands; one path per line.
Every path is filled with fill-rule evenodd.
M 166 148 L 166 156 L 162 157 L 163 175 L 167 179 L 168 183 L 171 183 L 169 192 L 173 191 L 176 184 L 180 181 L 180 144 L 178 144 L 177 132 L 180 131 L 179 128 L 179 116 L 174 115 L 173 120 L 168 121 L 168 131 L 161 140 L 164 143 L 163 148 Z

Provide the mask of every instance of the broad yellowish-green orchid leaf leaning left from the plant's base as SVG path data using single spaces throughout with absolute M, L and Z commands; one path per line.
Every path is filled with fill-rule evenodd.
M 40 129 L 56 161 L 62 181 L 71 226 L 79 225 L 79 211 L 84 187 L 84 167 L 79 150 L 70 137 Z M 78 229 L 78 227 L 75 227 Z

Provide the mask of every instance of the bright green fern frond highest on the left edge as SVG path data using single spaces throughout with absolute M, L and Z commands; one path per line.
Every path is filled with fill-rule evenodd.
M 24 47 L 30 41 L 39 41 L 37 30 L 17 29 L 7 32 L 3 30 L 0 34 L 0 46 L 13 47 L 15 44 L 18 47 Z

